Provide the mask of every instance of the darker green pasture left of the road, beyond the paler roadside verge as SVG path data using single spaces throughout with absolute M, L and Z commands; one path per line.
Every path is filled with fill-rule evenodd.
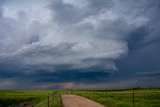
M 50 90 L 0 90 L 0 107 L 35 105 L 52 92 Z

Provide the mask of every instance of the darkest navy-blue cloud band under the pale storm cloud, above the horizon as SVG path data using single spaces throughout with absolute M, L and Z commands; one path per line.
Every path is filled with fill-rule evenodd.
M 63 83 L 63 82 L 75 82 L 75 83 L 98 83 L 105 82 L 106 78 L 111 75 L 110 73 L 105 73 L 103 71 L 95 72 L 82 72 L 83 70 L 70 70 L 70 71 L 60 71 L 54 73 L 44 73 L 39 72 L 35 77 L 35 82 L 55 82 L 55 83 Z M 70 72 L 70 73 L 68 73 Z

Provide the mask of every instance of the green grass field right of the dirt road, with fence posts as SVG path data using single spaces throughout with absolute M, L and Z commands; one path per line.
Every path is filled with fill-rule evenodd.
M 160 107 L 160 89 L 72 90 L 71 92 L 97 101 L 106 107 Z

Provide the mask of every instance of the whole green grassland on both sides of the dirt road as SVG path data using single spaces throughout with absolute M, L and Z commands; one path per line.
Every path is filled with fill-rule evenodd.
M 61 95 L 75 94 L 107 107 L 160 107 L 160 89 L 0 90 L 0 107 L 62 107 Z

